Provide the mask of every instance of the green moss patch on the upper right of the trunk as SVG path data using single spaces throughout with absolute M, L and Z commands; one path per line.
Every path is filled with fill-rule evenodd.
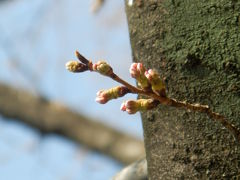
M 170 24 L 163 39 L 168 60 L 240 72 L 240 1 L 171 0 L 164 7 Z

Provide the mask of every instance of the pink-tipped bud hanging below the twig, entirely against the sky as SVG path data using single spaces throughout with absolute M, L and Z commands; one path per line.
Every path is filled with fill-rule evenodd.
M 105 104 L 111 99 L 116 99 L 129 93 L 129 89 L 125 86 L 117 86 L 108 90 L 101 90 L 97 92 L 96 101 L 100 104 Z

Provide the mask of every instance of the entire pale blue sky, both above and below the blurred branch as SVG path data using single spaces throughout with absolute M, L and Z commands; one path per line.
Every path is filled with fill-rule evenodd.
M 135 84 L 128 72 L 132 58 L 123 1 L 107 1 L 96 15 L 90 13 L 90 4 L 88 0 L 13 0 L 0 5 L 0 81 L 142 138 L 140 115 L 120 111 L 123 100 L 136 96 L 100 105 L 94 101 L 96 92 L 118 84 L 95 73 L 65 70 L 65 63 L 76 59 L 74 52 L 79 50 L 93 61 L 108 61 L 117 74 Z M 0 174 L 4 179 L 32 179 L 35 175 L 61 179 L 68 173 L 73 174 L 69 179 L 108 179 L 121 168 L 110 158 L 60 136 L 42 138 L 27 126 L 2 118 L 0 128 L 4 129 L 0 132 L 4 140 Z M 22 150 L 28 142 L 37 148 Z M 74 155 L 78 153 L 80 160 Z

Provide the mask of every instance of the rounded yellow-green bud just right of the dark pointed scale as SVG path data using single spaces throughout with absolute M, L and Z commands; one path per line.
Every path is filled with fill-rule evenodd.
M 113 73 L 112 67 L 105 61 L 98 61 L 97 63 L 94 63 L 92 65 L 92 69 L 104 76 L 109 76 Z

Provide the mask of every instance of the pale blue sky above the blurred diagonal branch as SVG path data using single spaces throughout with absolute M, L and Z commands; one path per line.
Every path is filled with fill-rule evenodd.
M 131 51 L 123 2 L 108 1 L 97 15 L 89 12 L 89 6 L 89 1 L 83 0 L 16 0 L 0 6 L 0 15 L 7 17 L 0 19 L 0 80 L 140 137 L 139 114 L 119 111 L 124 99 L 135 96 L 99 105 L 94 101 L 96 92 L 118 84 L 98 74 L 65 70 L 77 49 L 93 61 L 107 60 L 121 77 L 135 83 L 128 72 Z

